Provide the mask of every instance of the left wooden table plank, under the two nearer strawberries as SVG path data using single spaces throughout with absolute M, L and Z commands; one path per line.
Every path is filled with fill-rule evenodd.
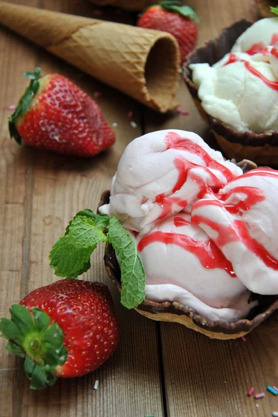
M 14 1 L 16 2 L 16 1 Z M 17 1 L 19 3 L 19 1 Z M 35 0 L 21 1 L 35 5 Z M 45 0 L 40 6 L 80 15 L 92 15 L 91 4 L 67 0 Z M 130 22 L 127 13 L 111 13 L 102 18 Z M 80 74 L 62 60 L 1 28 L 1 316 L 28 291 L 55 280 L 49 268 L 49 250 L 64 233 L 68 221 L 82 208 L 96 209 L 98 199 L 109 188 L 112 175 L 128 142 L 141 134 L 140 108 L 137 102 Z M 8 60 L 7 60 L 8 54 Z M 109 152 L 91 159 L 64 157 L 17 145 L 8 140 L 6 105 L 15 103 L 24 88 L 21 72 L 42 67 L 44 74 L 59 72 L 96 99 L 108 122 L 117 122 L 116 145 Z M 2 72 L 2 71 L 1 71 Z M 5 109 L 3 109 L 5 107 Z M 133 111 L 137 129 L 130 126 L 128 112 Z M 119 295 L 108 281 L 103 265 L 103 247 L 93 256 L 93 268 L 84 277 L 110 286 L 121 322 L 121 343 L 99 370 L 79 379 L 62 380 L 44 392 L 28 389 L 21 361 L 8 353 L 0 357 L 1 417 L 58 416 L 162 416 L 157 328 L 134 311 L 128 313 L 119 303 Z M 3 352 L 3 341 L 1 352 Z M 147 348 L 146 348 L 147 347 Z M 98 390 L 93 389 L 99 380 Z

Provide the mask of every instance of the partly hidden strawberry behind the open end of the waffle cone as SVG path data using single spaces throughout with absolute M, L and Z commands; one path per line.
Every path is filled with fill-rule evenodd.
M 180 1 L 160 1 L 142 13 L 137 26 L 171 33 L 180 47 L 180 63 L 196 46 L 198 16 L 189 6 L 178 6 Z

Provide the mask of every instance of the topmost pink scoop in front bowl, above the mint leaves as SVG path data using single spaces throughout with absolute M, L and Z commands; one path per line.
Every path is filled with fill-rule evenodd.
M 182 210 L 242 174 L 196 133 L 164 130 L 134 139 L 118 165 L 110 204 L 126 229 L 145 234 L 155 222 Z

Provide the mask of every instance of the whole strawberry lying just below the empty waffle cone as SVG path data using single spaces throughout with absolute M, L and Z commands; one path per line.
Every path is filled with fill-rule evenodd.
M 98 105 L 59 74 L 40 78 L 40 68 L 23 74 L 31 79 L 9 117 L 10 137 L 20 144 L 61 154 L 93 156 L 115 141 Z

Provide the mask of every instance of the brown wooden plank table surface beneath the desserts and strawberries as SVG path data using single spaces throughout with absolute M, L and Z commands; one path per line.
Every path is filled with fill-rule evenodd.
M 130 0 L 132 1 L 132 0 Z M 18 0 L 17 3 L 94 16 L 89 1 Z M 241 17 L 251 19 L 251 0 L 189 0 L 200 15 L 199 44 Z M 135 15 L 105 9 L 102 19 L 132 24 Z M 27 81 L 21 73 L 39 65 L 44 74 L 59 72 L 96 99 L 110 123 L 116 122 L 116 145 L 92 159 L 71 158 L 18 147 L 9 139 L 8 106 L 16 104 Z M 211 144 L 207 127 L 180 81 L 178 99 L 189 116 L 159 115 L 141 106 L 39 47 L 0 28 L 0 316 L 12 302 L 55 280 L 49 250 L 77 211 L 96 209 L 101 192 L 130 140 L 157 129 L 185 129 Z M 128 113 L 137 128 L 130 125 Z M 84 279 L 110 286 L 121 322 L 121 343 L 103 365 L 79 379 L 60 379 L 45 391 L 31 391 L 21 359 L 0 341 L 0 417 L 226 417 L 272 416 L 278 396 L 266 385 L 278 385 L 278 314 L 260 325 L 244 343 L 211 340 L 182 325 L 158 323 L 124 309 L 107 278 L 104 247 L 94 253 Z M 94 382 L 98 379 L 98 389 Z M 248 398 L 254 386 L 263 400 Z M 257 404 L 257 407 L 256 407 Z

